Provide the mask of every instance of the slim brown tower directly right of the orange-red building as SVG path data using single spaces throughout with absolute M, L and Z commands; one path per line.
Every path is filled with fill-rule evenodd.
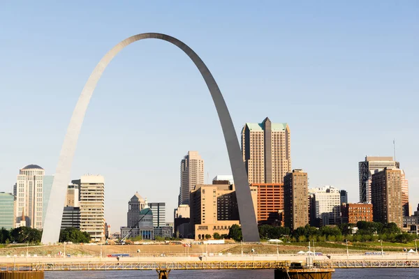
M 309 223 L 309 202 L 307 172 L 293 169 L 284 177 L 285 226 L 291 229 L 304 227 Z

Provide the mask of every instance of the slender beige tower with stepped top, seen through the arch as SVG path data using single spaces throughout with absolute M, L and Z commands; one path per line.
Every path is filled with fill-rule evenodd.
M 189 204 L 189 193 L 204 183 L 204 160 L 198 151 L 188 151 L 180 162 L 180 188 L 178 205 Z

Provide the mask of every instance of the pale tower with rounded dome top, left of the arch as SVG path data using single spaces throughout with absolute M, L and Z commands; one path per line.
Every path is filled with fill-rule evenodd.
M 43 176 L 45 170 L 38 165 L 27 165 L 20 169 L 15 185 L 15 223 L 22 218 L 27 227 L 42 229 Z

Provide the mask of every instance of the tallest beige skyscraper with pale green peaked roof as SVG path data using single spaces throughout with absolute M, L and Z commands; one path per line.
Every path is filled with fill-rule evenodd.
M 246 123 L 242 154 L 249 183 L 283 183 L 291 172 L 291 140 L 287 123 Z

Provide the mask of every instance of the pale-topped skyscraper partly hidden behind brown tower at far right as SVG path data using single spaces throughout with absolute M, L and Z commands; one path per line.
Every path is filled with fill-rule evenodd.
M 365 160 L 358 163 L 359 181 L 360 181 L 360 202 L 371 202 L 371 181 L 372 174 L 378 169 L 383 170 L 385 167 L 397 167 L 399 163 L 395 162 L 392 157 L 371 157 L 366 156 Z

